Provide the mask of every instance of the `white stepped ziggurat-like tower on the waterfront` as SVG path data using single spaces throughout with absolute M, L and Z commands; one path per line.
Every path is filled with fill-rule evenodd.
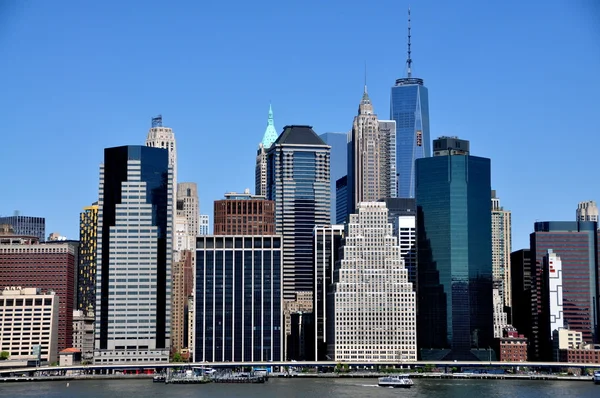
M 350 215 L 331 294 L 335 361 L 416 361 L 416 298 L 383 202 Z M 329 300 L 331 302 L 332 300 Z M 329 320 L 329 319 L 328 319 Z

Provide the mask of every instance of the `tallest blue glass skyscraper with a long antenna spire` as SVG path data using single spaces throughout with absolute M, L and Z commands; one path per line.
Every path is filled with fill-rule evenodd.
M 390 119 L 396 122 L 398 197 L 415 197 L 415 161 L 431 156 L 429 94 L 423 79 L 412 77 L 410 9 L 408 10 L 407 76 L 396 79 L 390 99 Z

